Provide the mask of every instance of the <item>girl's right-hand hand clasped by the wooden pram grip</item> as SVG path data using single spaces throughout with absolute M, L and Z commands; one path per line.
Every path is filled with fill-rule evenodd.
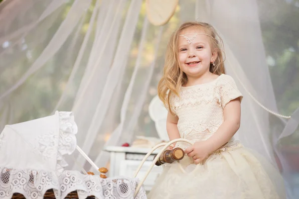
M 195 164 L 199 164 L 212 153 L 211 146 L 207 141 L 198 141 L 185 149 L 185 153 L 193 158 Z

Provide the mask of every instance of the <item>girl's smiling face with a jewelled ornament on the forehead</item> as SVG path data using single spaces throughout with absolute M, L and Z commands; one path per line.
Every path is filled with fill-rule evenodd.
M 192 34 L 194 33 L 194 34 Z M 193 37 L 191 43 L 182 36 L 178 38 L 178 58 L 181 70 L 187 78 L 199 78 L 209 73 L 210 63 L 216 60 L 217 53 L 212 53 L 210 38 L 204 35 L 205 32 L 198 27 L 189 27 L 180 32 L 179 35 Z

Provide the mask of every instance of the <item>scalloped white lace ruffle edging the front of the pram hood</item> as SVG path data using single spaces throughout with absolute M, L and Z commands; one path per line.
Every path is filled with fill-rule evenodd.
M 59 112 L 59 143 L 57 153 L 56 171 L 63 172 L 68 166 L 63 156 L 72 154 L 77 145 L 76 134 L 78 132 L 73 112 Z

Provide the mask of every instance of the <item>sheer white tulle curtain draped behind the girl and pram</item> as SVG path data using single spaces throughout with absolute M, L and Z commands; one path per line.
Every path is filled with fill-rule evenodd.
M 227 73 L 244 95 L 237 137 L 268 159 L 274 160 L 276 151 L 289 168 L 282 146 L 299 140 L 299 119 L 295 116 L 285 129 L 288 136 L 279 139 L 288 120 L 269 114 L 250 94 L 273 111 L 291 115 L 298 108 L 299 50 L 293 44 L 299 23 L 293 18 L 299 16 L 299 2 L 180 0 L 160 27 L 149 23 L 145 6 L 143 0 L 1 2 L 0 129 L 57 109 L 72 110 L 78 145 L 99 167 L 106 166 L 105 145 L 157 136 L 148 106 L 168 38 L 182 22 L 198 20 L 220 32 Z M 83 157 L 75 157 L 91 169 Z

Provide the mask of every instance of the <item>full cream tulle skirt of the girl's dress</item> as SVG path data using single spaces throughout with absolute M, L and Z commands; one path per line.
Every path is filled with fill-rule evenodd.
M 286 199 L 275 167 L 240 143 L 222 148 L 202 165 L 185 156 L 163 166 L 148 199 Z

